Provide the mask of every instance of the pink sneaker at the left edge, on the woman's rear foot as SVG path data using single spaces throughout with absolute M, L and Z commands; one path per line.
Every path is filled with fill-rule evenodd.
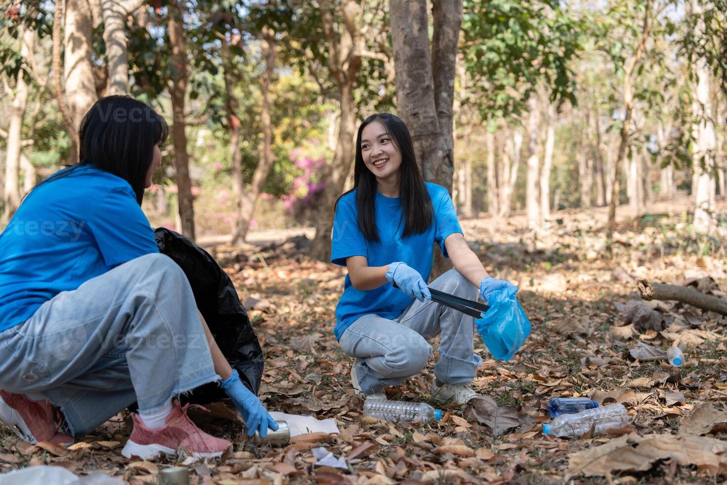
M 71 436 L 58 433 L 61 419 L 60 412 L 48 401 L 32 401 L 23 394 L 0 390 L 0 421 L 28 443 L 73 443 Z

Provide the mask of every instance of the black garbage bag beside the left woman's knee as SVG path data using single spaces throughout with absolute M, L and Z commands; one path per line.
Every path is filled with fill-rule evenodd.
M 197 308 L 214 341 L 230 366 L 237 369 L 243 384 L 257 396 L 262 379 L 262 348 L 232 280 L 208 252 L 180 233 L 156 228 L 154 239 L 159 252 L 171 257 L 187 275 Z M 209 404 L 226 397 L 217 382 L 210 382 L 180 396 L 180 400 Z

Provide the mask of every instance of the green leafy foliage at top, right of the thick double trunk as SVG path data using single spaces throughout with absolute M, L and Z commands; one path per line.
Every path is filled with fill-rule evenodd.
M 462 31 L 483 119 L 520 116 L 540 85 L 551 100 L 576 103 L 569 62 L 582 49 L 583 25 L 557 1 L 465 0 Z

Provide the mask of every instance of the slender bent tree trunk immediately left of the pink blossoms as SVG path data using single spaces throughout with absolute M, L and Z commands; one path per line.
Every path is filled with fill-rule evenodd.
M 275 33 L 270 28 L 263 28 L 265 44 L 265 73 L 262 74 L 262 106 L 260 110 L 260 119 L 262 121 L 262 160 L 257 164 L 255 172 L 252 175 L 252 183 L 249 190 L 242 187 L 240 204 L 238 206 L 238 220 L 235 231 L 233 231 L 232 241 L 230 244 L 238 244 L 244 241 L 247 236 L 247 230 L 250 220 L 255 212 L 257 198 L 260 196 L 265 180 L 268 180 L 270 167 L 273 167 L 273 127 L 270 122 L 270 81 L 273 79 L 273 71 L 275 70 L 277 43 Z

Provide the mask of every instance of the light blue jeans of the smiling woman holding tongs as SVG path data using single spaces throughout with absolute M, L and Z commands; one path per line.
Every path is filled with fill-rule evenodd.
M 454 269 L 429 286 L 469 300 L 479 294 L 477 286 Z M 437 379 L 445 384 L 474 380 L 482 364 L 474 352 L 475 318 L 431 300 L 414 300 L 393 320 L 373 313 L 361 316 L 345 329 L 339 342 L 348 356 L 356 357 L 358 384 L 368 394 L 419 373 L 433 353 L 427 341 L 438 334 Z

